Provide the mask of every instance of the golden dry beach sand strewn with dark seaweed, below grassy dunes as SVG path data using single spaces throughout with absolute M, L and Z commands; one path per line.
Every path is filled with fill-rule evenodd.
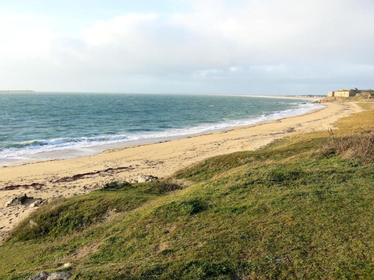
M 137 179 L 138 175 L 167 177 L 203 159 L 232 152 L 255 150 L 293 133 L 327 130 L 331 123 L 361 111 L 355 103 L 330 103 L 303 115 L 260 124 L 233 127 L 179 140 L 105 150 L 81 158 L 27 162 L 0 167 L 0 241 L 37 207 L 36 198 L 73 196 L 94 182 Z M 26 193 L 34 200 L 5 207 L 13 196 Z

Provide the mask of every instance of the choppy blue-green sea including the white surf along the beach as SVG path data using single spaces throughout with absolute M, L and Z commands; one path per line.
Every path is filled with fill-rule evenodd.
M 201 133 L 319 106 L 250 96 L 0 93 L 0 159 Z

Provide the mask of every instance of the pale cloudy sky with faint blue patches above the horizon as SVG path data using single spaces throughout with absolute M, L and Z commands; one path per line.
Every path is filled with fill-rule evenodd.
M 373 0 L 1 0 L 0 90 L 374 88 Z

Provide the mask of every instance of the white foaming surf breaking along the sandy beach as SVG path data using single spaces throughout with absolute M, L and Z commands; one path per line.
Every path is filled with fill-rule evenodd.
M 297 108 L 284 111 L 273 111 L 263 113 L 257 118 L 242 120 L 226 120 L 217 124 L 203 124 L 195 127 L 186 128 L 168 128 L 164 131 L 142 130 L 130 132 L 127 134 L 101 135 L 93 137 L 64 137 L 56 139 L 30 140 L 24 142 L 10 143 L 0 147 L 0 159 L 27 157 L 42 152 L 52 152 L 55 150 L 81 149 L 96 145 L 122 143 L 127 141 L 136 141 L 142 139 L 153 139 L 160 137 L 177 137 L 189 134 L 202 133 L 209 130 L 219 130 L 227 127 L 240 125 L 251 125 L 262 121 L 286 118 L 289 116 L 300 115 L 313 109 L 321 108 L 318 104 L 298 104 Z

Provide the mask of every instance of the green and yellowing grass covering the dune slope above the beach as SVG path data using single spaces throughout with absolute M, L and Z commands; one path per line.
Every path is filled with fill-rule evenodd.
M 366 118 L 372 110 L 341 119 L 335 135 L 372 129 Z M 0 247 L 0 278 L 371 279 L 373 165 L 316 154 L 328 139 L 299 134 L 171 180 L 43 206 L 30 217 L 37 226 L 28 218 Z M 194 183 L 182 189 L 173 179 Z

